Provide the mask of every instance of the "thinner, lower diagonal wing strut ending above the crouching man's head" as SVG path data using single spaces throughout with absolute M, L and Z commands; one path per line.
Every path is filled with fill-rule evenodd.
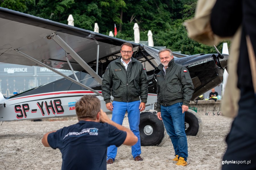
M 80 83 L 79 81 L 77 81 L 77 80 L 75 80 L 75 79 L 73 79 L 73 78 L 71 78 L 71 77 L 69 77 L 69 76 L 66 76 L 65 74 L 63 74 L 63 73 L 61 73 L 61 72 L 59 72 L 59 71 L 57 71 L 57 70 L 55 70 L 55 69 L 49 67 L 48 65 L 46 65 L 46 64 L 44 64 L 44 63 L 41 63 L 40 61 L 38 61 L 38 60 L 36 60 L 36 59 L 30 57 L 29 55 L 23 53 L 22 51 L 19 51 L 19 50 L 14 50 L 14 51 L 16 51 L 17 53 L 23 55 L 24 57 L 26 57 L 26 58 L 28 58 L 28 59 L 30 59 L 30 60 L 32 60 L 32 61 L 34 61 L 35 63 L 40 64 L 41 66 L 44 66 L 44 67 L 48 68 L 49 70 L 51 70 L 51 71 L 53 71 L 53 72 L 59 74 L 60 76 L 65 77 L 66 79 L 69 79 L 70 81 L 72 81 L 72 82 L 74 82 L 74 83 L 76 83 L 76 84 L 78 84 L 78 85 L 80 85 L 80 86 L 86 88 L 87 90 L 90 90 L 90 91 L 92 91 L 92 92 L 98 94 L 99 96 L 102 96 L 102 94 L 101 94 L 100 92 L 98 92 L 98 91 L 96 91 L 96 90 L 94 90 L 94 89 L 92 89 L 92 88 L 90 88 L 90 87 L 88 87 L 88 86 L 86 86 L 86 85 Z M 102 96 L 102 97 L 103 97 L 103 96 Z

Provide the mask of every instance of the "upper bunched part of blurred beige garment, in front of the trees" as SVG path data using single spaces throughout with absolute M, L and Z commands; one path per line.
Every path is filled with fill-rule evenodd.
M 230 37 L 219 37 L 212 32 L 210 26 L 210 16 L 216 0 L 198 0 L 195 11 L 195 17 L 184 22 L 189 38 L 198 42 L 217 45 L 222 40 Z

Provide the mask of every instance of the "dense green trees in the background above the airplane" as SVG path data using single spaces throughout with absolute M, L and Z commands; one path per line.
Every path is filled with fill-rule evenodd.
M 134 40 L 133 25 L 140 27 L 141 41 L 153 33 L 154 46 L 166 46 L 173 51 L 193 55 L 216 53 L 207 46 L 187 37 L 183 22 L 195 14 L 197 0 L 0 0 L 0 6 L 41 18 L 67 24 L 73 15 L 75 27 L 109 35 L 117 26 L 117 38 Z M 228 46 L 230 43 L 228 42 Z M 222 43 L 217 48 L 222 49 Z

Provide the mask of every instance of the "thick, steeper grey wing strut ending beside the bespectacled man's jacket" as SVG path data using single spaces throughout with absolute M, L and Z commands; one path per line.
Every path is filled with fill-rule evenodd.
M 82 66 L 82 68 L 84 68 L 84 70 L 87 71 L 92 78 L 94 78 L 100 85 L 102 84 L 102 78 L 94 70 L 92 70 L 92 68 L 72 48 L 70 48 L 59 35 L 52 33 L 51 35 L 47 36 L 47 38 L 52 38 L 64 51 L 66 51 L 75 61 L 77 61 L 77 63 L 80 64 L 80 66 Z

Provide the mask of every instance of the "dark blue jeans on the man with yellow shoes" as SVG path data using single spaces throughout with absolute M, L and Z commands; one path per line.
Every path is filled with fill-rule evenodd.
M 185 113 L 182 113 L 182 102 L 171 106 L 161 106 L 161 116 L 167 134 L 172 140 L 175 155 L 187 161 L 187 136 L 185 133 Z

